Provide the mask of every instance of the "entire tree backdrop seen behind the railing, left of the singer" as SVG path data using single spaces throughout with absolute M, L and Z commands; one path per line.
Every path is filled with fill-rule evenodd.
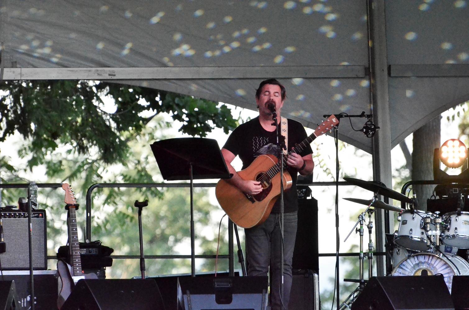
M 26 163 L 17 166 L 0 154 L 0 181 L 68 182 L 81 205 L 79 227 L 84 227 L 85 195 L 92 184 L 163 181 L 149 145 L 174 137 L 171 118 L 182 123 L 182 133 L 200 137 L 215 127 L 228 132 L 237 125 L 224 105 L 142 87 L 98 81 L 22 81 L 2 82 L 0 89 L 0 142 L 20 144 L 19 156 Z M 38 171 L 45 171 L 46 180 Z M 26 190 L 9 189 L 2 194 L 3 204 L 15 204 Z M 63 194 L 60 188 L 39 189 L 39 208 L 47 211 L 48 255 L 67 242 Z M 198 188 L 194 196 L 197 254 L 216 251 L 216 234 L 207 231 L 218 231 L 220 211 L 207 196 L 206 188 Z M 137 210 L 132 206 L 144 199 L 150 200 L 144 209 L 145 254 L 190 254 L 187 187 L 95 190 L 91 239 L 101 239 L 115 254 L 138 255 Z M 221 233 L 226 234 L 226 229 Z M 225 238 L 221 245 L 226 253 Z M 213 270 L 213 266 L 214 261 L 207 260 L 197 270 Z M 222 262 L 223 266 L 227 264 Z M 53 260 L 49 267 L 55 268 Z M 147 270 L 153 275 L 187 272 L 190 260 L 147 260 Z M 108 277 L 134 275 L 139 275 L 138 260 L 114 260 L 108 273 Z

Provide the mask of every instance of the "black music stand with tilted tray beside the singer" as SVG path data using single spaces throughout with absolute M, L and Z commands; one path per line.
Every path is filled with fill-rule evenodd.
M 190 250 L 192 276 L 196 276 L 194 233 L 194 183 L 201 179 L 229 179 L 227 165 L 218 143 L 207 138 L 172 138 L 151 146 L 163 179 L 190 180 Z

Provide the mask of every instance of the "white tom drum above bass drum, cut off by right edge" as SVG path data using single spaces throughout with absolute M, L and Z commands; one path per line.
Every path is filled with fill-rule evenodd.
M 443 216 L 446 229 L 441 233 L 445 245 L 458 249 L 469 249 L 469 212 L 448 212 Z

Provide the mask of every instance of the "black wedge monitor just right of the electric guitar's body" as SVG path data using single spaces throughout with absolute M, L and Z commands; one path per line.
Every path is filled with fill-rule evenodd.
M 152 279 L 82 279 L 61 310 L 165 310 Z

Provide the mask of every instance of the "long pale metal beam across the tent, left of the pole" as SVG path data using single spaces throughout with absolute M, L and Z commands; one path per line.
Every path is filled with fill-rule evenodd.
M 3 68 L 4 80 L 20 79 L 263 79 L 360 78 L 361 65 L 257 67 Z

